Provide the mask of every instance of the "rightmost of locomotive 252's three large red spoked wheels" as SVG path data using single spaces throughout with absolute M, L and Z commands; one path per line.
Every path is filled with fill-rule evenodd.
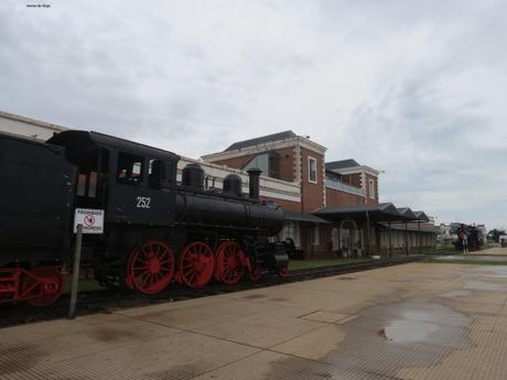
M 245 275 L 245 252 L 235 241 L 226 241 L 216 253 L 215 278 L 226 284 L 235 284 Z

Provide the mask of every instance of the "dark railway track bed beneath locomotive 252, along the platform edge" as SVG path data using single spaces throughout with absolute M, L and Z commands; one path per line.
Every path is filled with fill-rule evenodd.
M 212 283 L 206 287 L 198 290 L 187 289 L 174 284 L 171 285 L 168 291 L 151 296 L 132 293 L 130 290 L 100 290 L 83 292 L 78 295 L 77 315 L 82 316 L 94 313 L 112 313 L 114 311 L 129 307 L 177 302 L 209 295 L 273 286 L 282 283 L 313 280 L 330 275 L 354 273 L 419 261 L 423 258 L 423 256 L 397 257 L 385 260 L 369 260 L 354 264 L 339 264 L 296 270 L 289 272 L 287 276 L 282 279 L 278 275 L 267 273 L 258 282 L 244 281 L 235 285 Z M 25 304 L 0 306 L 0 328 L 33 322 L 65 318 L 68 313 L 68 303 L 69 294 L 64 294 L 57 302 L 48 307 L 37 308 Z

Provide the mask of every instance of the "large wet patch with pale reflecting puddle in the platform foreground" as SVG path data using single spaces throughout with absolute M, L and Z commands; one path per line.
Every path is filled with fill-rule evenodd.
M 473 347 L 464 330 L 471 322 L 438 303 L 379 303 L 341 325 L 345 339 L 319 361 L 282 359 L 272 363 L 266 378 L 395 378 L 402 368 L 434 366 L 456 349 Z

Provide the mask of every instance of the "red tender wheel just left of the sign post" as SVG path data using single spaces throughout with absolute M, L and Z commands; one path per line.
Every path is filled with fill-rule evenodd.
M 63 291 L 62 273 L 53 267 L 41 267 L 24 278 L 21 292 L 32 306 L 48 306 L 60 298 Z

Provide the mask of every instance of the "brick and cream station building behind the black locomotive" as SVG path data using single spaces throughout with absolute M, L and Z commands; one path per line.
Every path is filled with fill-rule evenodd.
M 45 141 L 67 129 L 0 111 L 3 133 Z M 198 163 L 207 188 L 222 188 L 233 173 L 248 193 L 246 171 L 260 169 L 261 198 L 284 210 L 278 238 L 293 242 L 298 258 L 389 257 L 435 247 L 439 228 L 423 211 L 379 200 L 378 170 L 352 159 L 326 162 L 325 153 L 325 146 L 288 130 L 236 142 L 201 160 L 182 158 L 179 181 L 186 164 Z

